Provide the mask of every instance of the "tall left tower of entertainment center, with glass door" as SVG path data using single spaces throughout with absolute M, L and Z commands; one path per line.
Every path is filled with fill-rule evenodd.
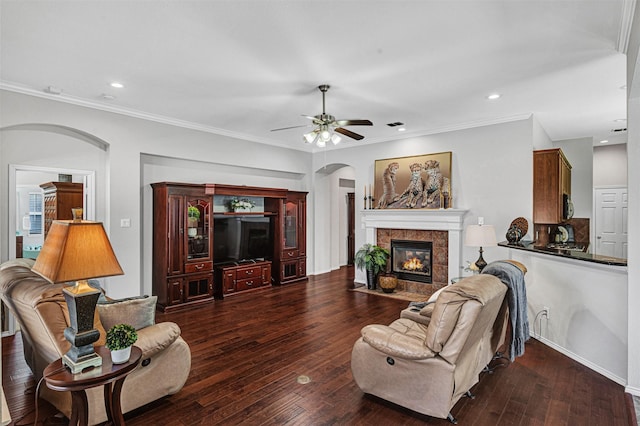
M 163 311 L 213 300 L 212 208 L 205 185 L 153 187 L 153 294 Z

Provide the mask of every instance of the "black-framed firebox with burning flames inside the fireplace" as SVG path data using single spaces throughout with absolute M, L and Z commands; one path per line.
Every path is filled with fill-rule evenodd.
M 391 272 L 399 279 L 431 283 L 433 243 L 391 240 Z

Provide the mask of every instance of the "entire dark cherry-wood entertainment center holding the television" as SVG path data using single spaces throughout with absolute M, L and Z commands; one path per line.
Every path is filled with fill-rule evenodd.
M 153 294 L 171 311 L 307 279 L 307 192 L 158 182 L 153 188 Z M 233 199 L 254 204 L 234 211 Z

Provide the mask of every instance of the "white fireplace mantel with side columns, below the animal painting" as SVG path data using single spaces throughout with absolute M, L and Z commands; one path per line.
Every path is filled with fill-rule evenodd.
M 449 265 L 448 280 L 460 275 L 462 267 L 462 230 L 464 216 L 469 210 L 463 209 L 373 209 L 362 210 L 362 224 L 365 241 L 376 244 L 376 230 L 422 229 L 426 231 L 448 231 Z

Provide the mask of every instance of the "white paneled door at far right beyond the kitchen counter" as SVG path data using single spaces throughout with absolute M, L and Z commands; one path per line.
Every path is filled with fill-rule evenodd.
M 593 253 L 627 258 L 627 188 L 595 189 Z

